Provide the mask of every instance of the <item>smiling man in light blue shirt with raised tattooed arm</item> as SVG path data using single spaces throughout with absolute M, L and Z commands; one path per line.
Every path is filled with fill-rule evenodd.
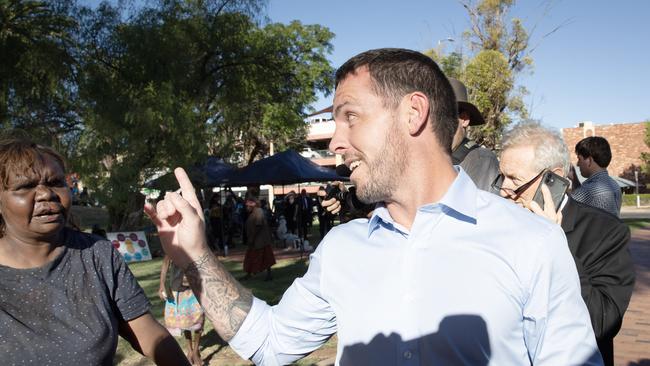
M 332 229 L 276 306 L 208 252 L 200 206 L 156 210 L 165 251 L 215 329 L 256 364 L 293 362 L 338 334 L 340 365 L 601 365 L 559 226 L 480 191 L 451 163 L 449 82 L 421 53 L 364 52 L 336 75 L 336 132 L 370 219 Z

